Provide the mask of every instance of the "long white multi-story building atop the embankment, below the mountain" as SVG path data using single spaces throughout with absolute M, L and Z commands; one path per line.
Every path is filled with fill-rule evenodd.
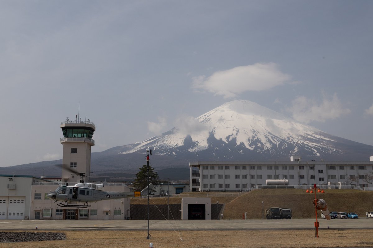
M 373 161 L 301 161 L 292 156 L 288 162 L 190 162 L 191 191 L 242 191 L 266 186 L 266 180 L 288 180 L 289 186 L 372 186 Z

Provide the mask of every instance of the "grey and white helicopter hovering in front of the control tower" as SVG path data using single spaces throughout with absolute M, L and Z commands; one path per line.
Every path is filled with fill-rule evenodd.
M 89 202 L 145 196 L 147 195 L 147 192 L 145 191 L 152 185 L 149 184 L 148 187 L 146 187 L 141 192 L 108 192 L 103 190 L 103 184 L 84 183 L 84 177 L 86 173 L 76 173 L 75 171 L 73 172 L 74 174 L 80 176 L 81 179 L 79 183 L 75 184 L 74 186 L 69 186 L 68 184 L 66 184 L 66 186 L 61 185 L 53 192 L 47 194 L 47 197 L 49 199 L 55 200 L 55 202 L 60 201 L 57 204 L 60 207 L 84 208 L 91 206 L 88 205 Z

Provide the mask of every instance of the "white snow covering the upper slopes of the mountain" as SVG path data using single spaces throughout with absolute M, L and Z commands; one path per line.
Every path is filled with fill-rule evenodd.
M 320 155 L 320 150 L 332 154 L 342 152 L 330 145 L 330 142 L 336 142 L 333 136 L 247 100 L 227 102 L 195 120 L 198 125 L 194 131 L 175 127 L 161 136 L 126 145 L 120 153 L 148 148 L 164 154 L 220 149 L 212 147 L 212 139 L 221 145 L 233 145 L 238 152 L 245 148 L 269 154 L 284 150 L 288 155 L 296 154 L 300 149 L 315 156 Z

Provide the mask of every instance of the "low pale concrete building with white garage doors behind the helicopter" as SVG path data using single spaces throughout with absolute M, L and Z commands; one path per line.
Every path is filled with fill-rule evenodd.
M 47 194 L 59 184 L 29 175 L 0 175 L 0 219 L 129 219 L 130 199 L 103 200 L 87 208 L 60 207 Z M 131 191 L 126 184 L 106 184 L 105 191 Z

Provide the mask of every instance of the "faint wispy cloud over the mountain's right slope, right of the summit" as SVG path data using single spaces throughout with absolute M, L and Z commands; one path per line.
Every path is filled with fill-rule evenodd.
M 292 101 L 292 107 L 288 110 L 292 112 L 294 119 L 304 123 L 325 122 L 325 120 L 336 119 L 351 112 L 350 109 L 342 106 L 336 93 L 333 96 L 323 94 L 321 103 L 314 99 L 307 99 L 305 96 L 297 97 Z

